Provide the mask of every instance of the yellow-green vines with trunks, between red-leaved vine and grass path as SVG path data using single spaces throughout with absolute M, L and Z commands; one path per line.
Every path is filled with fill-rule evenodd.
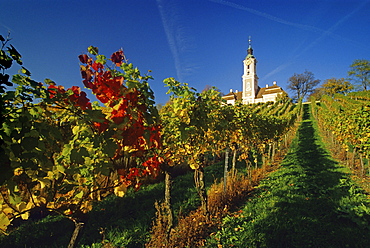
M 168 93 L 172 94 L 170 101 L 160 113 L 163 123 L 165 164 L 174 167 L 186 162 L 194 170 L 194 182 L 201 200 L 201 210 L 204 218 L 208 220 L 210 212 L 203 170 L 207 164 L 207 157 L 220 156 L 225 150 L 232 148 L 234 161 L 238 152 L 240 160 L 248 161 L 248 167 L 250 160 L 258 167 L 258 158 L 261 156 L 266 163 L 274 157 L 273 147 L 278 147 L 277 144 L 282 137 L 294 125 L 301 103 L 294 106 L 290 99 L 281 98 L 275 104 L 261 105 L 260 107 L 266 111 L 257 114 L 253 113 L 255 105 L 241 103 L 235 106 L 226 105 L 222 102 L 219 92 L 213 88 L 197 93 L 195 89 L 173 78 L 164 82 L 169 87 Z M 233 173 L 234 167 L 233 165 Z M 225 185 L 227 171 L 225 166 Z M 166 183 L 165 206 L 163 209 L 157 207 L 157 216 L 163 220 L 157 221 L 154 227 L 157 235 L 153 235 L 164 237 L 164 240 L 156 240 L 154 243 L 162 242 L 169 245 L 173 238 L 168 196 L 170 185 L 171 183 Z

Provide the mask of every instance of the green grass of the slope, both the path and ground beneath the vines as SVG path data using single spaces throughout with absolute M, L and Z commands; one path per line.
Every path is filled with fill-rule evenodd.
M 243 163 L 238 168 L 245 173 Z M 206 172 L 209 189 L 223 176 L 222 162 L 206 167 Z M 245 190 L 239 210 L 209 224 L 206 232 L 211 235 L 203 243 L 208 247 L 366 247 L 370 198 L 350 176 L 330 156 L 309 105 L 304 105 L 303 120 L 280 168 L 259 186 Z M 143 187 L 96 205 L 77 247 L 144 247 L 155 219 L 153 204 L 163 198 L 163 187 L 162 183 Z M 192 173 L 179 176 L 173 188 L 177 217 L 199 206 Z M 0 245 L 66 247 L 72 232 L 72 222 L 50 216 L 3 237 Z

